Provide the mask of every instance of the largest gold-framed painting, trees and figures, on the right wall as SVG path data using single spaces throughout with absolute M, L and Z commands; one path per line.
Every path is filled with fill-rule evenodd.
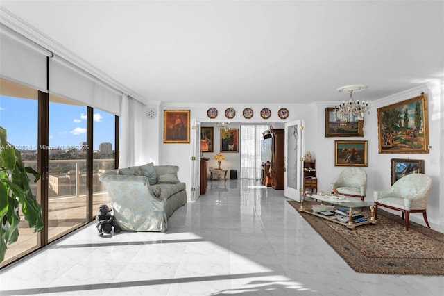
M 377 109 L 379 153 L 429 153 L 427 97 Z

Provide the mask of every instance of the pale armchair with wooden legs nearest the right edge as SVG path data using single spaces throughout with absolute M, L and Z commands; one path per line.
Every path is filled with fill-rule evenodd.
M 408 174 L 396 181 L 388 190 L 375 191 L 375 215 L 378 206 L 402 211 L 402 219 L 405 219 L 405 230 L 409 230 L 410 213 L 422 213 L 425 224 L 427 221 L 427 204 L 429 204 L 430 190 L 432 190 L 432 178 L 425 174 Z

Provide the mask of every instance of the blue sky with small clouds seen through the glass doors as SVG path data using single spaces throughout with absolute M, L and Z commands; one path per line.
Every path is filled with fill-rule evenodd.
M 49 146 L 77 147 L 86 142 L 85 106 L 49 104 Z M 37 145 L 37 100 L 0 96 L 0 126 L 8 133 L 8 142 L 19 147 Z M 101 142 L 112 143 L 114 115 L 94 109 L 94 150 Z

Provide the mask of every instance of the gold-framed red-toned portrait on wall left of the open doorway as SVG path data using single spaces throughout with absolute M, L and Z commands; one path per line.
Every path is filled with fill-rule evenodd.
M 164 143 L 189 143 L 189 110 L 164 110 Z

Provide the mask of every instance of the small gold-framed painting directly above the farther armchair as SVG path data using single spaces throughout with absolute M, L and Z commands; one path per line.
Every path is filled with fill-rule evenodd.
M 366 167 L 367 141 L 334 141 L 334 165 Z

